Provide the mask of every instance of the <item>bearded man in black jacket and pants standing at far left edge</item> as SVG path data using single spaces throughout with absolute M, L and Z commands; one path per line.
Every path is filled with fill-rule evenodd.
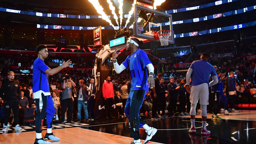
M 20 84 L 14 81 L 14 72 L 9 71 L 7 74 L 8 79 L 4 81 L 0 89 L 0 97 L 5 101 L 5 117 L 4 117 L 4 128 L 2 132 L 8 130 L 7 123 L 9 121 L 9 116 L 12 112 L 14 113 L 14 123 L 15 130 L 22 130 L 18 124 L 18 112 L 19 112 L 19 97 L 20 97 Z

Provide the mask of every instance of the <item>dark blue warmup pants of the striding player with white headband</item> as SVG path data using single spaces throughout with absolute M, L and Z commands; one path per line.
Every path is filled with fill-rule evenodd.
M 140 139 L 139 127 L 146 124 L 139 116 L 140 108 L 144 101 L 145 95 L 145 90 L 130 91 L 126 101 L 126 106 L 124 108 L 124 113 L 129 118 L 130 133 L 135 140 Z M 133 128 L 135 128 L 135 131 Z

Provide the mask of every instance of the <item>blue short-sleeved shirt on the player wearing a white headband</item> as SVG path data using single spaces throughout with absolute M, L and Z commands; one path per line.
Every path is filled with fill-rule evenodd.
M 130 54 L 122 63 L 126 68 L 130 68 L 132 76 L 130 90 L 145 90 L 149 87 L 146 84 L 148 80 L 148 70 L 146 65 L 151 64 L 148 55 L 141 49 L 137 49 L 135 53 Z

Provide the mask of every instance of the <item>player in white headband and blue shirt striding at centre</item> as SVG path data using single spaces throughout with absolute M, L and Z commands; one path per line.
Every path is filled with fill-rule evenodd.
M 124 113 L 129 118 L 130 133 L 134 138 L 132 144 L 141 144 L 139 127 L 143 127 L 148 134 L 144 143 L 148 143 L 157 131 L 157 129 L 149 127 L 138 114 L 146 92 L 149 90 L 149 87 L 153 88 L 155 83 L 153 77 L 154 66 L 149 61 L 147 54 L 139 49 L 142 44 L 142 41 L 139 41 L 137 38 L 129 39 L 127 41 L 127 50 L 131 51 L 132 54 L 130 54 L 121 65 L 119 65 L 116 60 L 121 52 L 113 53 L 112 56 L 116 73 L 119 74 L 124 69 L 130 68 L 132 75 L 130 92 L 124 109 Z

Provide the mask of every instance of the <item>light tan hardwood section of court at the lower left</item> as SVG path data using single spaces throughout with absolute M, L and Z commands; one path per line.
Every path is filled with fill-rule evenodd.
M 44 135 L 45 133 L 46 131 L 44 130 L 42 134 Z M 53 133 L 60 138 L 59 142 L 52 141 L 53 144 L 129 144 L 133 140 L 132 138 L 123 137 L 120 135 L 97 132 L 79 127 L 54 129 Z M 1 134 L 0 143 L 32 144 L 34 142 L 34 138 L 35 132 Z M 144 141 L 142 140 L 142 142 Z M 155 142 L 149 143 L 159 144 Z

